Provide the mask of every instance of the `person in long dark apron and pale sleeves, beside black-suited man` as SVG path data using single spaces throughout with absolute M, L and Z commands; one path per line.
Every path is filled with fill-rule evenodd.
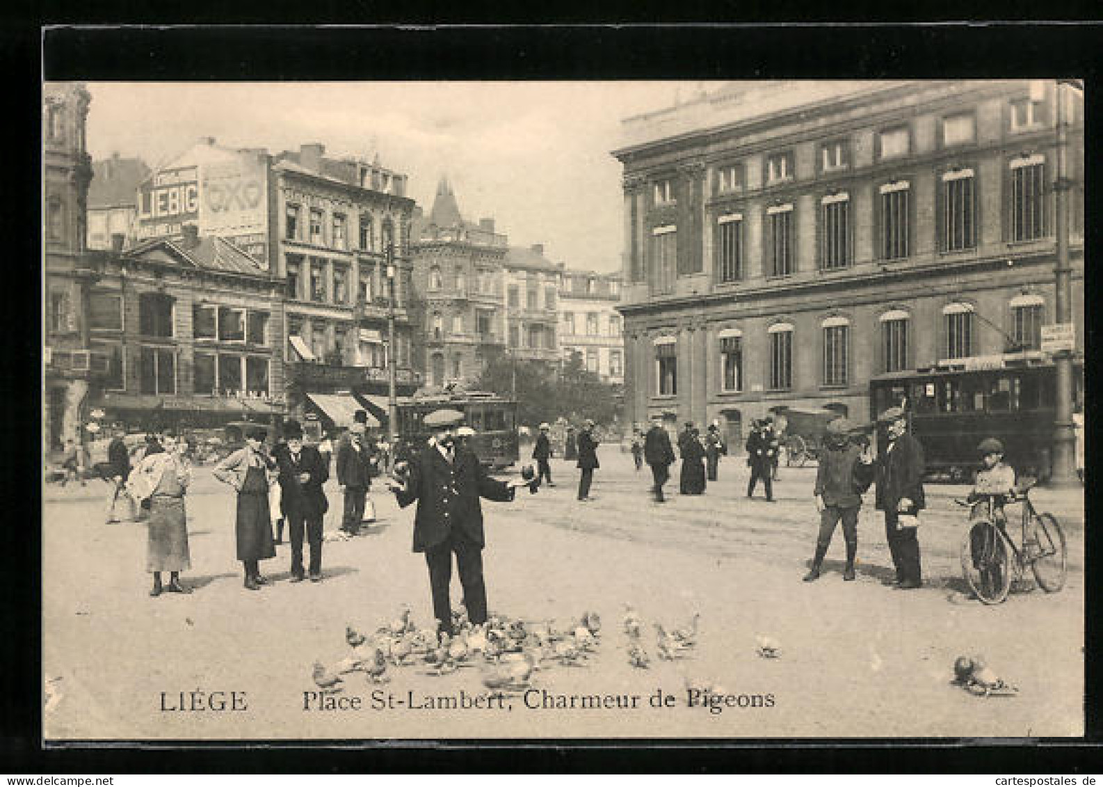
M 276 461 L 263 448 L 266 436 L 264 429 L 249 429 L 245 448 L 219 461 L 213 471 L 215 478 L 237 490 L 237 560 L 245 567 L 245 587 L 249 591 L 268 584 L 260 575 L 259 562 L 276 556 L 268 506 Z

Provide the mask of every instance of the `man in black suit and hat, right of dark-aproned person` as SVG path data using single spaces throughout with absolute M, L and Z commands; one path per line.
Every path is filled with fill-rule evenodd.
M 310 581 L 322 579 L 322 518 L 329 501 L 322 485 L 330 477 L 329 462 L 313 446 L 302 445 L 297 421 L 283 424 L 283 439 L 272 455 L 279 467 L 280 506 L 291 532 L 291 582 L 302 582 L 302 536 L 310 544 Z

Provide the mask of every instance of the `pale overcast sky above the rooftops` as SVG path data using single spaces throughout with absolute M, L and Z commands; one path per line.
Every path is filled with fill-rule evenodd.
M 322 142 L 409 176 L 427 212 L 447 174 L 464 217 L 568 267 L 617 270 L 624 117 L 708 83 L 90 83 L 88 149 L 151 167 L 200 137 L 269 152 Z

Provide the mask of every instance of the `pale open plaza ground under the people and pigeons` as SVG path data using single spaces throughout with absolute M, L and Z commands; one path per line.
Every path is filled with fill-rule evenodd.
M 566 627 L 586 610 L 604 623 L 586 667 L 549 666 L 533 687 L 555 695 L 638 695 L 635 709 L 375 710 L 373 691 L 425 705 L 428 698 L 480 694 L 476 668 L 445 677 L 392 669 L 386 685 L 345 676 L 344 696 L 360 710 L 303 710 L 311 666 L 349 655 L 346 624 L 364 631 L 409 605 L 431 618 L 424 557 L 410 552 L 414 508 L 373 492 L 379 522 L 368 534 L 326 542 L 324 581 L 288 582 L 290 550 L 261 565 L 275 584 L 242 587 L 234 560 L 234 499 L 206 468 L 188 497 L 192 595 L 148 595 L 146 529 L 104 522 L 106 486 L 45 490 L 43 522 L 43 677 L 56 695 L 44 715 L 50 738 L 438 738 L 438 737 L 817 737 L 1064 736 L 1083 733 L 1083 496 L 1036 492 L 1058 514 L 1069 542 L 1069 578 L 1054 595 L 1013 594 L 984 606 L 961 578 L 963 487 L 930 486 L 920 542 L 925 586 L 897 591 L 881 515 L 872 494 L 859 520 L 858 578 L 842 578 L 837 532 L 815 583 L 801 577 L 812 556 L 817 515 L 815 468 L 783 468 L 778 502 L 747 500 L 747 467 L 726 459 L 703 497 L 647 496 L 650 474 L 631 458 L 599 451 L 589 503 L 575 500 L 577 474 L 553 460 L 557 487 L 513 503 L 484 502 L 484 552 L 492 611 Z M 676 492 L 675 480 L 667 489 Z M 328 487 L 336 528 L 340 498 Z M 453 578 L 453 604 L 460 598 Z M 651 669 L 628 663 L 621 631 L 631 603 L 650 624 L 686 625 L 700 613 L 690 658 Z M 757 638 L 781 646 L 763 659 Z M 951 684 L 961 653 L 982 653 L 1019 688 L 981 699 Z M 688 708 L 686 683 L 719 683 L 732 695 L 771 695 L 772 706 Z M 246 710 L 176 710 L 181 692 L 238 692 Z M 656 691 L 673 708 L 652 708 Z M 162 696 L 163 694 L 163 696 Z M 533 701 L 543 694 L 532 695 Z M 189 700 L 190 702 L 190 700 Z M 211 704 L 205 702 L 205 705 Z M 537 702 L 539 704 L 539 702 Z M 163 710 L 165 709 L 167 710 Z

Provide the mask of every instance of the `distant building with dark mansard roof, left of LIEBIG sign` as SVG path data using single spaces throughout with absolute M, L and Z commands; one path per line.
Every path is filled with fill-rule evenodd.
M 138 188 L 149 178 L 149 167 L 141 159 L 122 158 L 94 161 L 88 187 L 88 248 L 108 249 L 137 235 Z

